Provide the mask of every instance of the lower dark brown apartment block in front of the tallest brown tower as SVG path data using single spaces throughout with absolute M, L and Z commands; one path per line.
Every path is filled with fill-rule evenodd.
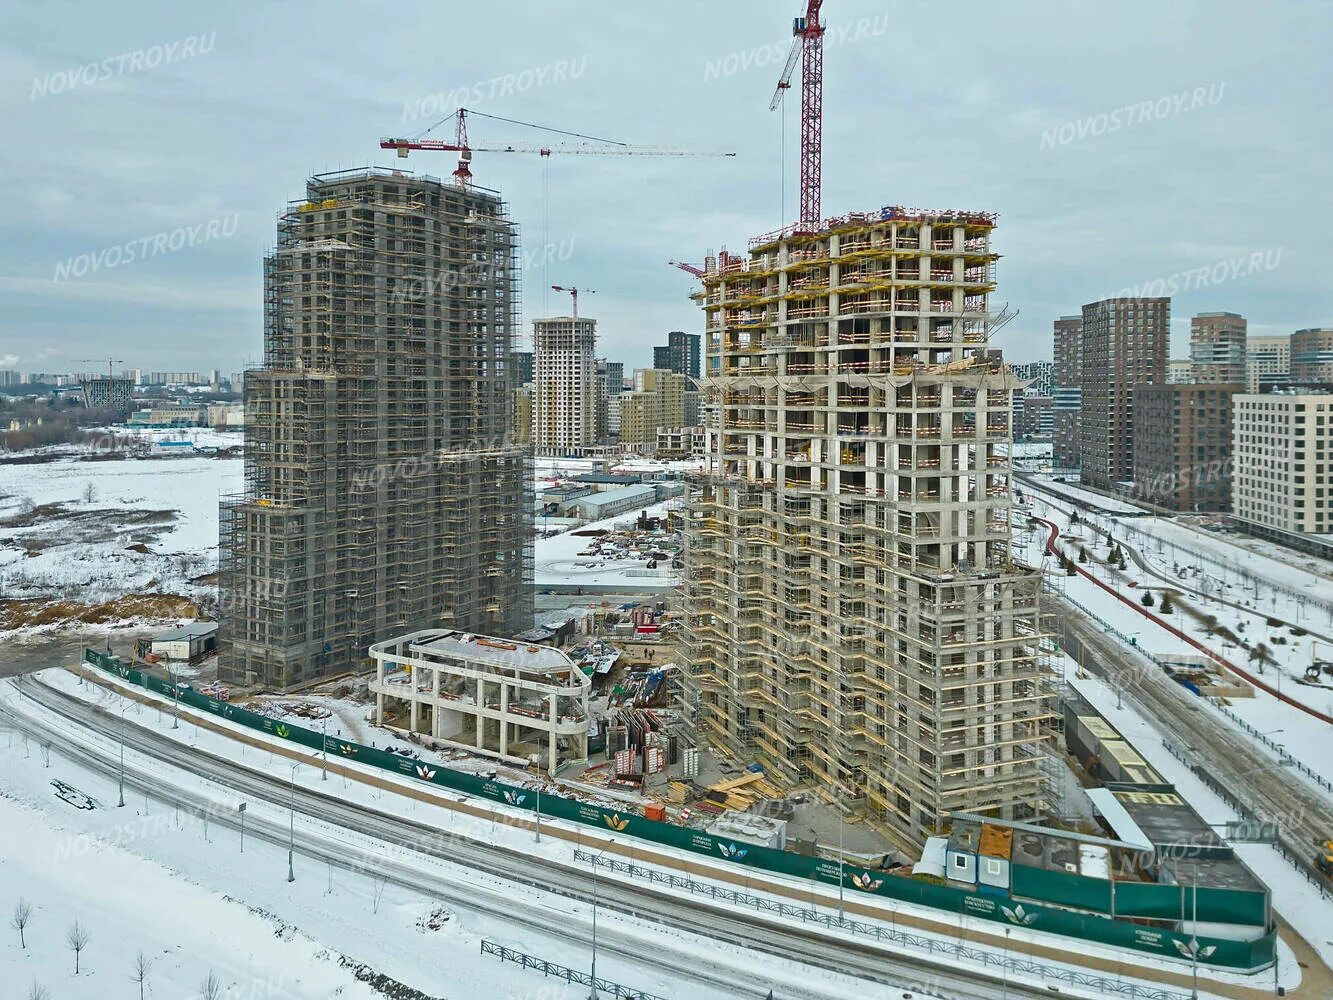
M 1134 388 L 1134 495 L 1172 511 L 1228 511 L 1232 397 L 1244 383 Z

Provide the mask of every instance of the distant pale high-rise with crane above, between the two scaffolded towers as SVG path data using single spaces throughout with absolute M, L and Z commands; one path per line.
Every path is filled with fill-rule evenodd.
M 597 437 L 597 321 L 533 320 L 532 444 L 537 455 L 584 455 Z

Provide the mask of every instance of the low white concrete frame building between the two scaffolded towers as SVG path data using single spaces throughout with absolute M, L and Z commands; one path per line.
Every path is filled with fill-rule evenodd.
M 592 680 L 560 649 L 425 629 L 371 656 L 376 725 L 551 776 L 588 759 Z

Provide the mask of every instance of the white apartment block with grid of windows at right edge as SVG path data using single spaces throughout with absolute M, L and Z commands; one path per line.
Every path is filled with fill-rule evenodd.
M 1333 389 L 1236 396 L 1233 439 L 1234 523 L 1333 556 Z

